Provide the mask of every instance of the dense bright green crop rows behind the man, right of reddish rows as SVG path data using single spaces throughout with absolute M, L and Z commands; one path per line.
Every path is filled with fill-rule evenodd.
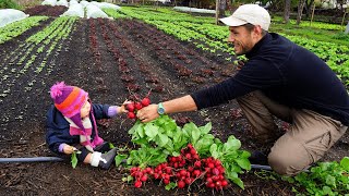
M 135 10 L 133 8 L 122 9 L 119 12 L 152 24 L 158 29 L 166 34 L 173 35 L 180 40 L 191 41 L 197 48 L 203 50 L 218 53 L 219 51 L 224 51 L 226 53 L 233 54 L 233 48 L 227 44 L 225 38 L 229 33 L 227 27 L 216 26 L 205 17 L 200 21 L 200 17 L 193 19 L 193 16 L 180 13 L 180 19 L 188 17 L 193 20 L 178 20 L 172 16 L 173 13 L 171 13 L 171 11 L 166 13 L 154 12 L 146 9 Z M 284 36 L 316 53 L 321 59 L 328 63 L 339 77 L 344 79 L 344 83 L 349 85 L 349 82 L 347 81 L 349 78 L 348 46 L 335 45 L 326 41 L 315 41 L 300 36 Z M 226 60 L 231 59 L 227 58 Z

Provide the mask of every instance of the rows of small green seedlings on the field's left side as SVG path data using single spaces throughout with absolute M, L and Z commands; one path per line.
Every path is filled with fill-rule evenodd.
M 48 71 L 47 74 L 50 74 L 55 63 L 48 61 L 62 50 L 62 40 L 68 38 L 75 20 L 74 17 L 56 19 L 49 26 L 28 37 L 24 44 L 3 59 L 0 70 L 1 98 L 11 93 L 20 77 L 27 77 L 25 79 L 27 84 L 22 86 L 25 90 L 31 90 L 44 69 Z

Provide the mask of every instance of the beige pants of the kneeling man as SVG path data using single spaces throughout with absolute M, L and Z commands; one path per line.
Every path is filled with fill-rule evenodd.
M 296 110 L 281 106 L 253 91 L 237 99 L 253 126 L 254 137 L 270 140 L 277 125 L 273 115 L 291 123 L 268 155 L 269 166 L 279 174 L 296 175 L 321 159 L 345 134 L 348 126 L 311 110 Z

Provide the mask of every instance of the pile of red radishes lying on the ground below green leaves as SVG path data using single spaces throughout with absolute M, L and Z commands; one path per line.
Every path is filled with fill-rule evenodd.
M 191 144 L 181 150 L 180 156 L 168 157 L 167 162 L 158 164 L 154 170 L 135 167 L 130 172 L 135 177 L 135 187 L 141 187 L 151 177 L 160 180 L 166 185 L 173 182 L 178 188 L 184 188 L 195 181 L 217 191 L 228 186 L 221 162 L 213 157 L 200 159 Z

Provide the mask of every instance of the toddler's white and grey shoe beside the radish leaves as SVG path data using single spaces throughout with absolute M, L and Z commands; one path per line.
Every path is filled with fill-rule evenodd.
M 117 155 L 117 148 L 112 148 L 106 154 L 95 151 L 92 154 L 91 166 L 100 167 L 105 170 L 108 170 L 110 164 L 113 162 Z

